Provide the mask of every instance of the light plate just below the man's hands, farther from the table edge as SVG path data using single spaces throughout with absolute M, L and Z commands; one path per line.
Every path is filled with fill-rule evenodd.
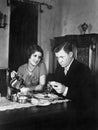
M 38 99 L 46 99 L 46 100 L 52 100 L 52 99 L 57 99 L 58 96 L 56 94 L 43 94 L 43 93 L 38 93 L 38 94 L 34 94 L 34 97 L 38 98 Z

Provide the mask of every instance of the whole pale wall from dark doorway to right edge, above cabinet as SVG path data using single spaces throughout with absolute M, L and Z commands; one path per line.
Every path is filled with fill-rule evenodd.
M 47 1 L 53 5 L 53 9 L 44 8 L 41 14 L 41 45 L 45 51 L 47 68 L 51 72 L 53 57 L 50 51 L 50 39 L 66 34 L 80 34 L 78 26 L 84 22 L 91 24 L 91 29 L 86 33 L 98 33 L 98 0 Z M 96 69 L 98 69 L 97 61 L 98 58 Z

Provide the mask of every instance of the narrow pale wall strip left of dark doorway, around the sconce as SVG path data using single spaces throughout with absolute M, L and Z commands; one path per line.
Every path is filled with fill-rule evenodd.
M 7 26 L 0 28 L 0 68 L 8 68 L 9 48 L 9 7 L 6 0 L 0 0 L 0 11 L 7 15 Z

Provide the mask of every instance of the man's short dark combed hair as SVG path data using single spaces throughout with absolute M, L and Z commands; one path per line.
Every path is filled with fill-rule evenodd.
M 70 42 L 65 41 L 62 44 L 60 44 L 59 46 L 57 46 L 54 49 L 54 52 L 57 53 L 61 49 L 63 49 L 65 52 L 69 53 L 70 51 L 73 51 L 73 45 Z

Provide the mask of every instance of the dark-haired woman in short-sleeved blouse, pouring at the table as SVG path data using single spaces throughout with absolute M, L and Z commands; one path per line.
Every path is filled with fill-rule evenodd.
M 38 45 L 32 45 L 28 49 L 28 63 L 18 68 L 17 75 L 23 79 L 22 93 L 29 91 L 41 91 L 46 81 L 46 66 L 43 62 L 43 50 Z M 11 73 L 11 77 L 16 72 Z

